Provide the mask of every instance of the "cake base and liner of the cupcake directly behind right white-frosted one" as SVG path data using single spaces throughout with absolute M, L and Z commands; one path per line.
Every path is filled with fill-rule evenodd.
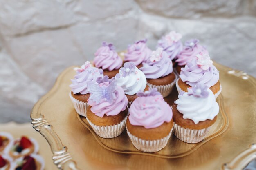
M 182 91 L 187 92 L 188 91 L 187 88 L 191 87 L 186 83 L 185 83 L 186 85 L 183 86 L 184 82 L 182 82 L 182 80 L 180 78 L 178 78 L 176 80 L 175 84 L 176 84 L 176 88 L 177 88 L 177 91 L 179 94 Z M 179 84 L 182 84 L 182 87 Z M 215 85 L 211 86 L 210 90 L 213 92 L 215 99 L 217 99 L 217 97 L 220 95 L 220 93 L 222 91 L 222 86 L 220 84 L 220 81 L 218 81 Z

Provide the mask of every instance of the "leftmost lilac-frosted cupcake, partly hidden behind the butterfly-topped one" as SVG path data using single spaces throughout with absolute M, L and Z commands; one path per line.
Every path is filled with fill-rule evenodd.
M 88 83 L 98 84 L 97 78 L 103 77 L 103 70 L 92 67 L 90 62 L 85 62 L 81 68 L 77 69 L 75 79 L 72 79 L 70 88 L 70 99 L 74 104 L 76 112 L 81 116 L 86 116 L 86 110 L 88 108 L 87 100 L 90 97 L 88 93 Z

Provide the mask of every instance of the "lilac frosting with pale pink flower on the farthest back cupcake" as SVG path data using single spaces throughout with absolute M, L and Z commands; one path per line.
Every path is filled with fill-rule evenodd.
M 158 40 L 157 47 L 162 47 L 171 60 L 173 60 L 183 49 L 182 42 L 180 41 L 181 38 L 182 35 L 180 33 L 171 31 Z

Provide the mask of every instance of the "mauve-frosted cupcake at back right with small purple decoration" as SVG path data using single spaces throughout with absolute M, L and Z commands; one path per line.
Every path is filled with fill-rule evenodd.
M 175 62 L 177 63 L 177 73 L 180 74 L 181 68 L 185 67 L 187 62 L 190 62 L 199 53 L 209 55 L 207 49 L 201 46 L 198 39 L 192 39 L 185 42 L 183 50 L 177 55 Z

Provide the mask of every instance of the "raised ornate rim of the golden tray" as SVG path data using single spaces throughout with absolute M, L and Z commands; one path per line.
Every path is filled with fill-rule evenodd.
M 227 72 L 229 75 L 233 75 L 238 79 L 244 79 L 245 81 L 249 81 L 254 86 L 254 89 L 256 89 L 256 79 L 252 77 L 251 75 L 248 75 L 247 73 L 239 70 L 234 70 L 232 68 L 229 68 L 227 66 L 223 66 L 218 63 L 214 63 L 215 66 L 220 68 L 220 70 Z M 50 148 L 52 150 L 53 154 L 53 161 L 54 164 L 60 169 L 63 170 L 81 170 L 76 166 L 76 161 L 72 158 L 70 153 L 67 150 L 67 147 L 64 146 L 61 142 L 60 137 L 58 137 L 57 133 L 53 130 L 53 127 L 51 124 L 48 123 L 48 121 L 44 118 L 45 116 L 42 115 L 38 108 L 41 104 L 51 96 L 54 91 L 56 91 L 58 82 L 61 80 L 61 77 L 65 75 L 67 71 L 69 71 L 71 68 L 74 68 L 76 66 L 70 66 L 69 68 L 66 68 L 56 79 L 56 82 L 53 86 L 53 88 L 45 94 L 41 99 L 36 102 L 34 107 L 31 110 L 30 117 L 31 117 L 31 123 L 33 125 L 33 128 L 40 132 L 43 137 L 47 140 L 47 142 L 50 145 Z M 253 101 L 255 102 L 255 101 Z M 227 127 L 226 127 L 227 128 Z M 256 144 L 248 144 L 248 148 L 246 150 L 241 150 L 240 154 L 234 155 L 234 158 L 230 160 L 227 163 L 223 163 L 222 169 L 223 170 L 241 170 L 243 169 L 250 161 L 256 158 Z

